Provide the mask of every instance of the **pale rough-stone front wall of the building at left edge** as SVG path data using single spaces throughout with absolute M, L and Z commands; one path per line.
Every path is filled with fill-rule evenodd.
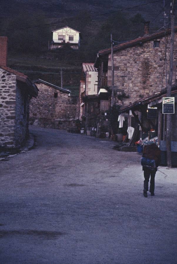
M 16 75 L 0 68 L 0 147 L 15 147 Z

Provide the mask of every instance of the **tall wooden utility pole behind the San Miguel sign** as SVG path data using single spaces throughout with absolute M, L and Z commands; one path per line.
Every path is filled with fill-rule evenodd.
M 171 3 L 171 39 L 170 39 L 170 61 L 169 77 L 166 97 L 171 97 L 171 86 L 173 78 L 173 45 L 174 45 L 174 25 L 175 25 L 175 0 Z M 166 114 L 166 153 L 167 167 L 171 168 L 171 114 Z

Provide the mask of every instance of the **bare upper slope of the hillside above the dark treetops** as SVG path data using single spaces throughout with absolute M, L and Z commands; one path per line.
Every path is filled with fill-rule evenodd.
M 154 3 L 148 4 L 151 2 Z M 170 3 L 170 1 L 166 0 L 165 3 Z M 132 8 L 133 6 L 137 7 Z M 1 0 L 0 12 L 3 16 L 9 16 L 11 13 L 18 13 L 20 9 L 28 12 L 38 9 L 44 11 L 48 17 L 58 18 L 75 16 L 83 10 L 98 16 L 101 13 L 127 9 L 131 15 L 141 12 L 145 19 L 151 21 L 162 8 L 163 0 Z

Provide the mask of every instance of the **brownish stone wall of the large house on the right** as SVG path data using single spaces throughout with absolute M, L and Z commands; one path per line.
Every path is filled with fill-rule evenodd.
M 136 45 L 131 48 L 116 51 L 114 59 L 115 103 L 126 106 L 138 99 L 152 95 L 161 90 L 162 76 L 163 88 L 166 87 L 166 71 L 163 75 L 165 59 L 165 38 L 155 39 L 160 41 L 159 48 L 153 48 L 153 40 Z M 169 68 L 169 36 L 167 46 L 167 70 Z M 176 81 L 177 65 L 177 34 L 174 45 L 174 72 L 173 83 Z M 167 72 L 168 80 L 168 72 Z M 108 60 L 108 86 L 111 86 L 111 56 Z M 122 93 L 128 98 L 121 98 Z M 119 99 L 118 99 L 119 95 Z

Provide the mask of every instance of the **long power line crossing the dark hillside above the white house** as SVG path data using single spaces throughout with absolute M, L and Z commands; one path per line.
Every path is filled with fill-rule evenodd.
M 157 2 L 159 2 L 159 0 L 151 1 L 151 2 L 148 2 L 148 3 L 145 3 L 145 4 L 141 4 L 141 5 L 136 5 L 136 6 L 132 6 L 132 7 L 127 7 L 127 8 L 119 9 L 117 11 L 112 11 L 112 12 L 106 12 L 106 13 L 103 13 L 103 14 L 93 15 L 92 17 L 110 15 L 110 14 L 113 14 L 113 13 L 117 13 L 117 12 L 120 12 L 120 11 L 126 11 L 126 10 L 130 10 L 130 9 L 138 8 L 138 7 L 141 7 L 141 6 L 148 5 L 148 4 L 155 4 Z M 50 25 L 55 25 L 55 24 L 58 24 L 58 23 L 71 22 L 71 21 L 82 20 L 82 19 L 86 19 L 86 18 L 90 18 L 90 16 L 82 17 L 82 18 L 73 18 L 70 21 L 68 21 L 68 20 L 65 19 L 63 21 L 57 21 L 57 22 L 54 22 L 54 23 L 46 23 L 46 24 L 36 25 L 36 26 L 29 26 L 29 27 L 26 27 L 26 28 L 6 29 L 6 30 L 1 30 L 1 32 L 14 31 L 14 30 L 26 30 L 26 29 L 30 29 L 30 28 L 37 28 L 37 27 L 42 27 L 42 26 L 50 26 Z

